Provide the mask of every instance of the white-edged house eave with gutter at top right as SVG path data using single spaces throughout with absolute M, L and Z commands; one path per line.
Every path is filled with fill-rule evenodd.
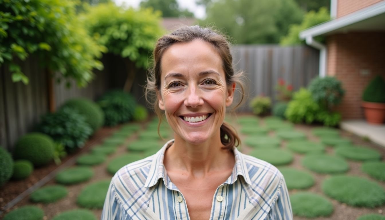
M 385 1 L 303 30 L 300 38 L 351 31 L 385 31 Z

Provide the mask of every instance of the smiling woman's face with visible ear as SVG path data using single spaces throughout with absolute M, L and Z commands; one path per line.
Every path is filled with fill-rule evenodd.
M 226 86 L 222 60 L 208 42 L 177 43 L 163 54 L 159 107 L 176 135 L 188 143 L 219 137 L 234 88 Z

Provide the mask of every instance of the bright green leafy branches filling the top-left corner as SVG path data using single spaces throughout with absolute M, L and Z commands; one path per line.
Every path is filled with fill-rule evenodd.
M 12 81 L 28 84 L 16 60 L 36 54 L 58 78 L 73 78 L 86 86 L 104 47 L 87 34 L 70 0 L 4 0 L 0 9 L 0 65 L 9 64 Z

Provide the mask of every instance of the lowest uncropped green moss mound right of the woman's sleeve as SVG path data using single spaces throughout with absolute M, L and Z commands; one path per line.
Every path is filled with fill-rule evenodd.
M 333 204 L 323 196 L 300 192 L 290 196 L 293 214 L 300 217 L 316 218 L 333 213 Z

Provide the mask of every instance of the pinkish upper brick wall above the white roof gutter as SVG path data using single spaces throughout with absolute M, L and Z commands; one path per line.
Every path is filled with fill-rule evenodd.
M 337 18 L 383 0 L 337 0 Z

